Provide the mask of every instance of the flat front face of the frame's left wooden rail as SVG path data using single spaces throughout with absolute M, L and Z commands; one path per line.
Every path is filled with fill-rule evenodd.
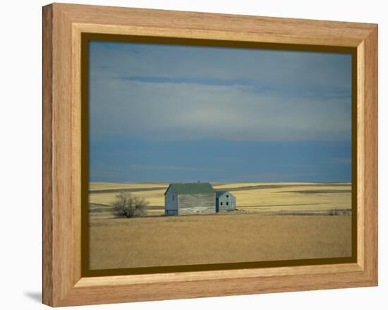
M 64 13 L 55 6 L 53 9 L 53 276 L 56 304 L 73 286 L 75 236 L 71 205 L 71 32 Z

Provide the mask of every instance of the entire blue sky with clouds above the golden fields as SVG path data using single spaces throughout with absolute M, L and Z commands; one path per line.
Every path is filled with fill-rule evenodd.
M 351 55 L 92 41 L 90 181 L 351 181 Z

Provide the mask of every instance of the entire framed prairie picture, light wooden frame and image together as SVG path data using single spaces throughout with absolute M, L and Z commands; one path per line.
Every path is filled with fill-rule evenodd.
M 377 25 L 43 8 L 43 302 L 377 285 Z

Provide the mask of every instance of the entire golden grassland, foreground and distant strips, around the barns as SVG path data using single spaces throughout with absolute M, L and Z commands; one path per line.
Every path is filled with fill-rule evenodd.
M 350 183 L 213 184 L 236 211 L 174 217 L 163 216 L 168 185 L 90 183 L 91 269 L 351 256 Z M 145 198 L 150 216 L 114 217 L 119 191 Z

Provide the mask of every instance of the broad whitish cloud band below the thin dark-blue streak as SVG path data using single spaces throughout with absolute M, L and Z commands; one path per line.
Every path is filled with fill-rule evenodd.
M 350 138 L 350 100 L 252 93 L 239 86 L 99 81 L 92 133 L 235 140 Z

